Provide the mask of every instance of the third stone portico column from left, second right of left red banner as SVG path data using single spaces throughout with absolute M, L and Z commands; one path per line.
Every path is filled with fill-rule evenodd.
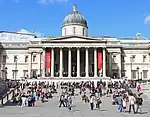
M 59 66 L 59 77 L 62 78 L 63 77 L 63 50 L 62 48 L 60 48 L 60 66 Z

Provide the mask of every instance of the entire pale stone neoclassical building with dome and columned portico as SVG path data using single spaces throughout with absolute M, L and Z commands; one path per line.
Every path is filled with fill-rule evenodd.
M 150 41 L 88 36 L 76 6 L 62 23 L 62 36 L 36 37 L 0 31 L 1 79 L 123 78 L 150 79 Z

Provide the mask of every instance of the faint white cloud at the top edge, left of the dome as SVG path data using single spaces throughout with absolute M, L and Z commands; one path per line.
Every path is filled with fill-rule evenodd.
M 67 3 L 69 0 L 39 0 L 39 3 L 41 4 L 61 4 L 61 3 Z

